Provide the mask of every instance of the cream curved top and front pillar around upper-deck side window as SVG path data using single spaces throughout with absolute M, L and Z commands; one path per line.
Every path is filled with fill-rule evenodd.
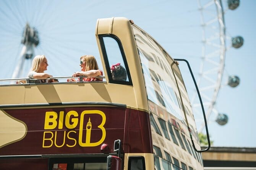
M 99 19 L 97 22 L 96 35 L 97 34 L 109 34 L 110 24 L 112 18 Z M 130 21 L 127 18 L 115 17 L 112 24 L 112 34 L 116 35 L 122 42 L 122 46 L 125 52 L 129 70 L 131 73 L 131 79 L 134 87 L 134 94 L 136 99 L 136 108 L 148 110 L 147 96 L 144 86 L 143 74 L 141 70 L 141 64 L 135 44 L 134 36 L 131 30 Z M 98 41 L 98 38 L 96 36 Z M 99 44 L 99 42 L 98 42 Z M 101 51 L 101 50 L 100 50 Z M 102 55 L 102 53 L 100 52 Z M 133 106 L 134 107 L 134 106 Z

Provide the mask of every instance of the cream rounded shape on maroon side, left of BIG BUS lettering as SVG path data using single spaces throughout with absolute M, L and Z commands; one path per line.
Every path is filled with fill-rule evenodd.
M 23 139 L 27 133 L 27 126 L 24 122 L 11 117 L 0 110 L 0 148 Z

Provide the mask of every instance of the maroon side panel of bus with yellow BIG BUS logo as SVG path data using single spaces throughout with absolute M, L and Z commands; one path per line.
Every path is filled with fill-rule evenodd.
M 117 139 L 124 152 L 152 152 L 151 143 L 144 141 L 151 138 L 149 115 L 144 111 L 70 106 L 6 108 L 0 115 L 5 119 L 0 130 L 5 139 L 1 140 L 1 156 L 114 153 Z M 100 150 L 103 143 L 109 145 L 108 151 Z

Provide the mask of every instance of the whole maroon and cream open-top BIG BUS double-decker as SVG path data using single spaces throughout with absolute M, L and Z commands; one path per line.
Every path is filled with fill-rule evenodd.
M 126 18 L 98 19 L 96 40 L 102 81 L 0 80 L 17 82 L 0 85 L 0 169 L 203 170 L 178 61 Z

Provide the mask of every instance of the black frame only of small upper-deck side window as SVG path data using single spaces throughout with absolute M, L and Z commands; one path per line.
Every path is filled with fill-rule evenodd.
M 100 48 L 101 48 L 101 51 L 102 51 L 103 59 L 104 59 L 104 62 L 105 62 L 105 67 L 107 69 L 107 75 L 109 77 L 109 83 L 133 86 L 133 83 L 132 83 L 132 80 L 131 80 L 130 70 L 129 70 L 129 67 L 128 67 L 128 63 L 127 63 L 127 60 L 126 60 L 126 56 L 125 56 L 125 52 L 123 50 L 123 45 L 122 45 L 121 40 L 116 35 L 113 35 L 113 34 L 100 34 L 100 35 L 98 35 L 98 37 L 99 37 Z M 104 37 L 113 38 L 117 42 L 118 47 L 119 47 L 120 52 L 121 52 L 121 55 L 122 55 L 123 63 L 125 64 L 126 73 L 127 73 L 127 77 L 128 77 L 128 82 L 127 81 L 120 81 L 120 80 L 113 80 L 112 74 L 110 72 L 109 59 L 108 59 L 108 56 L 107 56 L 107 51 L 106 51 L 105 43 L 104 43 L 104 40 L 103 40 Z

